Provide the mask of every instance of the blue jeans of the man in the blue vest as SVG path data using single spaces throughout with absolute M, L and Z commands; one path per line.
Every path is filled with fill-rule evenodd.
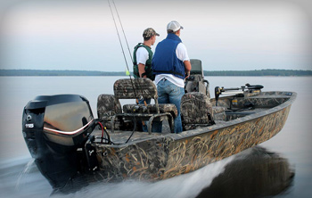
M 185 95 L 184 87 L 177 87 L 166 78 L 160 80 L 157 84 L 158 103 L 173 103 L 177 106 L 177 118 L 175 118 L 175 133 L 182 132 L 182 121 L 180 113 L 181 98 Z M 161 131 L 162 126 L 158 125 L 158 131 Z

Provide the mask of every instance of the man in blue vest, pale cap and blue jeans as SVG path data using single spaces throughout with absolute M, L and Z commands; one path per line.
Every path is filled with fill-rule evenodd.
M 174 103 L 177 106 L 175 133 L 182 132 L 180 114 L 181 98 L 185 94 L 185 78 L 190 76 L 192 68 L 185 45 L 180 39 L 183 27 L 177 21 L 167 25 L 168 36 L 155 49 L 152 58 L 152 70 L 157 85 L 158 102 Z M 161 125 L 158 128 L 161 131 Z

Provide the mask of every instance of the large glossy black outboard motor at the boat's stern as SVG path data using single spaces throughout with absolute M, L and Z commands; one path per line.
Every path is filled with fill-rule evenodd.
M 40 95 L 25 106 L 25 142 L 53 188 L 62 188 L 86 166 L 84 144 L 94 126 L 89 102 L 80 95 Z

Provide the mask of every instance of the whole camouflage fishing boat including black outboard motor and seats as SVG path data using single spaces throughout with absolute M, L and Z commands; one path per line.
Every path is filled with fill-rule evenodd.
M 103 182 L 157 181 L 201 169 L 263 143 L 283 128 L 296 93 L 263 92 L 263 86 L 215 87 L 201 61 L 185 81 L 181 100 L 184 131 L 173 133 L 177 107 L 160 104 L 148 78 L 118 79 L 114 95 L 99 95 L 97 118 L 82 95 L 39 95 L 22 116 L 22 134 L 37 168 L 53 189 L 76 177 L 97 175 Z M 151 104 L 135 99 L 152 98 Z M 120 101 L 133 99 L 132 103 Z M 129 100 L 126 100 L 129 101 Z M 161 124 L 162 131 L 153 131 Z M 138 126 L 146 125 L 146 132 Z

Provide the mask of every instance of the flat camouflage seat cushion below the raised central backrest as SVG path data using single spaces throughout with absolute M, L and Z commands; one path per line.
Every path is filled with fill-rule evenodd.
M 170 112 L 174 118 L 177 117 L 177 107 L 173 103 L 160 103 L 160 113 Z M 156 105 L 155 104 L 125 104 L 122 107 L 124 112 L 131 113 L 156 113 Z

